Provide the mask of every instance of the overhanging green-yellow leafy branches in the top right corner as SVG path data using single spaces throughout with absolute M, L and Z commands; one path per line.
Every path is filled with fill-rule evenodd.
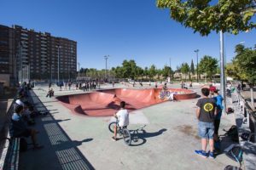
M 211 31 L 238 34 L 256 27 L 255 0 L 158 0 L 158 8 L 170 9 L 170 17 L 201 36 Z

